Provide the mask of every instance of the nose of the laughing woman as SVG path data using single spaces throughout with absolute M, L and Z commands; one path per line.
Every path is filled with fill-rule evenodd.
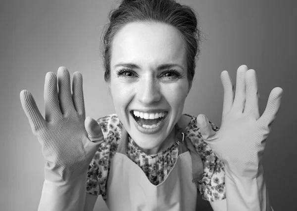
M 153 79 L 142 80 L 138 87 L 138 99 L 143 105 L 151 105 L 161 99 L 160 84 Z

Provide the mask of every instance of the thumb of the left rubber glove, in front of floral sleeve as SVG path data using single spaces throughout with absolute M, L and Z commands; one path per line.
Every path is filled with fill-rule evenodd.
M 102 142 L 104 140 L 101 127 L 98 122 L 91 117 L 85 120 L 85 127 L 88 132 L 88 137 L 92 142 Z

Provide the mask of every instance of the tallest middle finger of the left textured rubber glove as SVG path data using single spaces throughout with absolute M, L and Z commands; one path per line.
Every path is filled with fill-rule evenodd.
M 58 79 L 58 98 L 60 110 L 66 117 L 71 111 L 74 111 L 69 72 L 65 67 L 59 67 L 57 73 Z

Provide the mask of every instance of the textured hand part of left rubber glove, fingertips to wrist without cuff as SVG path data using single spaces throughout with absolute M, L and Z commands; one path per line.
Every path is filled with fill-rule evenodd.
M 79 72 L 73 75 L 72 90 L 73 94 L 66 68 L 60 67 L 57 77 L 52 72 L 46 75 L 45 119 L 32 94 L 27 90 L 20 93 L 24 112 L 42 145 L 48 180 L 56 176 L 72 178 L 86 172 L 103 140 L 98 123 L 92 118 L 85 120 L 83 79 Z

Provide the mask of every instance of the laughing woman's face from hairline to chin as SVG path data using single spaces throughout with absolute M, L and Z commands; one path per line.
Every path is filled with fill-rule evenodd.
M 134 22 L 114 36 L 111 50 L 115 111 L 137 145 L 154 154 L 174 141 L 189 92 L 184 41 L 172 26 Z

